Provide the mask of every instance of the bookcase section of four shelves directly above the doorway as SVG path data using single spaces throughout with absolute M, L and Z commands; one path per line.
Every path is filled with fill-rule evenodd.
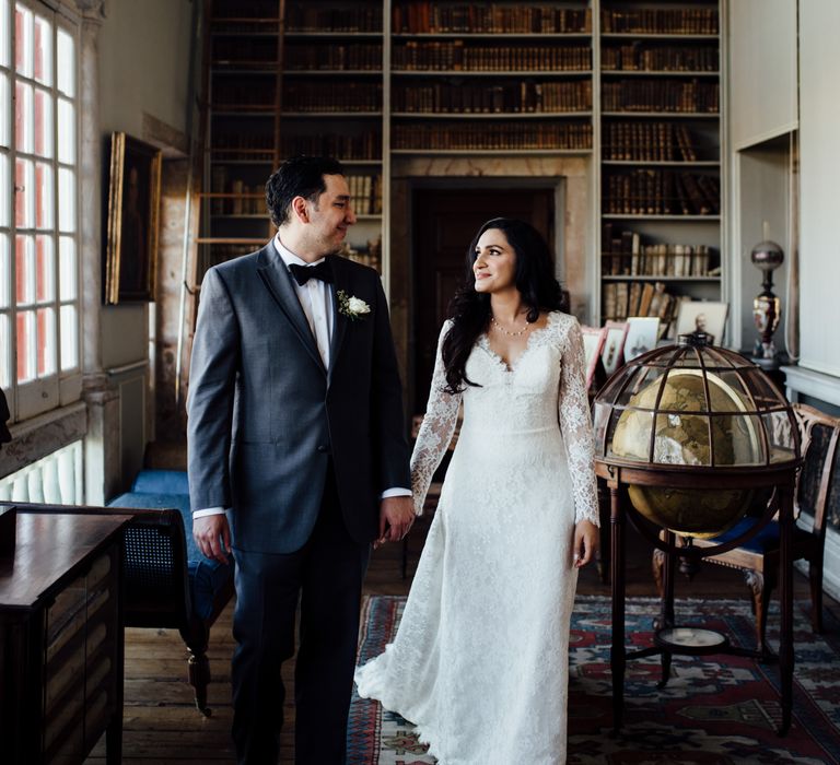
M 587 3 L 394 0 L 393 154 L 592 148 Z

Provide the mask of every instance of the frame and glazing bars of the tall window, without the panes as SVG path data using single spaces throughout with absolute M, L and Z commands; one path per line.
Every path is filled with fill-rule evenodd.
M 51 68 L 49 85 L 44 85 L 35 81 L 34 72 L 23 74 L 18 72 L 15 45 L 16 45 L 16 8 L 26 8 L 33 16 L 45 20 L 50 25 L 50 49 L 51 56 L 49 67 Z M 0 103 L 0 120 L 5 120 L 5 134 L 8 136 L 8 146 L 0 145 L 0 155 L 5 157 L 8 168 L 7 199 L 0 196 L 0 204 L 5 204 L 5 210 L 0 211 L 0 223 L 8 225 L 0 226 L 0 238 L 7 237 L 5 260 L 0 252 L 0 268 L 7 269 L 8 295 L 0 295 L 0 366 L 4 366 L 7 372 L 0 374 L 0 384 L 3 385 L 9 409 L 12 413 L 12 422 L 23 422 L 59 407 L 67 405 L 81 398 L 82 392 L 82 364 L 83 364 L 83 284 L 82 284 L 82 251 L 81 251 L 81 231 L 80 231 L 80 208 L 81 208 L 81 109 L 80 109 L 80 68 L 81 68 L 81 28 L 78 19 L 65 13 L 62 7 L 52 7 L 42 2 L 42 0 L 0 0 L 0 17 L 8 19 L 7 28 L 0 28 L 0 47 L 5 47 L 8 51 L 8 61 L 0 63 L 0 73 L 7 78 L 8 98 Z M 34 22 L 33 22 L 34 28 Z M 58 36 L 59 32 L 70 37 L 73 44 L 73 80 L 72 95 L 68 96 L 59 90 L 59 56 L 58 56 Z M 34 39 L 34 34 L 33 34 Z M 18 148 L 18 136 L 15 126 L 15 98 L 18 83 L 30 85 L 33 89 L 33 99 L 35 89 L 46 92 L 50 102 L 50 121 L 51 121 L 51 142 L 49 156 L 37 155 L 35 146 L 30 146 L 30 151 L 23 152 Z M 2 91 L 0 90 L 0 93 Z M 73 137 L 72 137 L 72 162 L 59 161 L 59 102 L 69 101 L 73 109 Z M 34 114 L 34 111 L 33 111 Z M 0 127 L 0 133 L 2 127 Z M 27 226 L 18 226 L 16 220 L 16 162 L 18 158 L 24 158 L 33 163 L 46 164 L 51 172 L 51 221 L 48 227 L 36 228 L 35 215 Z M 2 162 L 2 160 L 0 160 Z M 72 173 L 71 192 L 74 197 L 72 211 L 71 229 L 65 231 L 60 226 L 59 204 L 61 197 L 59 192 L 59 170 L 69 169 Z M 34 175 L 34 172 L 33 172 Z M 31 195 L 31 199 L 36 198 L 37 190 Z M 5 219 L 3 221 L 3 219 Z M 45 302 L 38 302 L 37 295 L 34 295 L 35 304 L 28 304 L 19 307 L 16 290 L 16 237 L 22 233 L 27 236 L 46 236 L 51 243 L 51 273 L 52 291 L 50 298 Z M 72 242 L 73 262 L 72 281 L 74 282 L 74 293 L 71 298 L 62 299 L 61 296 L 61 259 L 60 245 L 63 239 Z M 2 246 L 2 243 L 0 243 Z M 33 261 L 34 262 L 34 261 Z M 0 276 L 0 285 L 2 285 Z M 0 289 L 2 289 L 0 286 Z M 4 299 L 3 299 L 4 298 Z M 48 307 L 52 310 L 52 348 L 51 348 L 51 372 L 42 376 L 37 375 L 33 379 L 23 381 L 18 380 L 18 316 L 22 310 L 34 307 Z M 68 323 L 62 320 L 62 306 L 72 306 L 74 308 L 74 321 Z M 3 334 L 3 323 L 5 323 L 5 336 Z M 62 332 L 74 334 L 75 360 L 71 367 L 62 368 L 61 348 Z M 8 342 L 5 342 L 8 340 Z M 5 348 L 4 348 L 5 346 Z M 36 353 L 42 346 L 39 336 L 36 338 Z M 1 370 L 0 370 L 1 372 Z

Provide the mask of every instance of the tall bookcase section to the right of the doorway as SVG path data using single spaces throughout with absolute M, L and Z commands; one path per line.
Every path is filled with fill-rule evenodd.
M 720 9 L 599 4 L 600 319 L 667 320 L 721 298 Z

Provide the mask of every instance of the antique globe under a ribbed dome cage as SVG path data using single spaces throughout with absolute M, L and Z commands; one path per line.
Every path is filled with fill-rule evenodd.
M 798 433 L 784 396 L 756 364 L 681 336 L 626 364 L 595 399 L 596 458 L 657 473 L 628 485 L 632 506 L 681 537 L 721 534 L 745 514 L 760 514 L 772 486 L 733 476 L 798 459 Z M 668 475 L 696 473 L 686 481 Z M 715 482 L 716 475 L 728 475 Z M 653 483 L 654 485 L 650 485 Z M 702 485 L 702 489 L 696 487 Z M 721 487 L 725 483 L 726 487 Z

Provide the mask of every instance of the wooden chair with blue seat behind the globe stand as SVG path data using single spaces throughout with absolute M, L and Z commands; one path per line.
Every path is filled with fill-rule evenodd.
M 810 623 L 814 632 L 822 631 L 822 556 L 826 540 L 826 522 L 829 515 L 840 514 L 840 470 L 838 470 L 838 437 L 840 417 L 832 417 L 806 404 L 793 404 L 800 427 L 804 463 L 796 479 L 795 507 L 797 523 L 794 527 L 794 561 L 808 562 L 810 581 Z M 802 513 L 808 519 L 809 528 Z M 755 525 L 757 518 L 743 518 L 726 533 L 713 539 L 695 539 L 692 544 L 709 548 L 728 541 Z M 744 573 L 744 579 L 752 596 L 756 615 L 757 649 L 765 657 L 772 651 L 765 642 L 767 611 L 770 595 L 778 582 L 779 574 L 779 523 L 772 520 L 756 537 L 740 548 L 703 558 Z M 653 574 L 660 597 L 664 598 L 664 567 L 667 555 L 656 550 L 653 554 Z

